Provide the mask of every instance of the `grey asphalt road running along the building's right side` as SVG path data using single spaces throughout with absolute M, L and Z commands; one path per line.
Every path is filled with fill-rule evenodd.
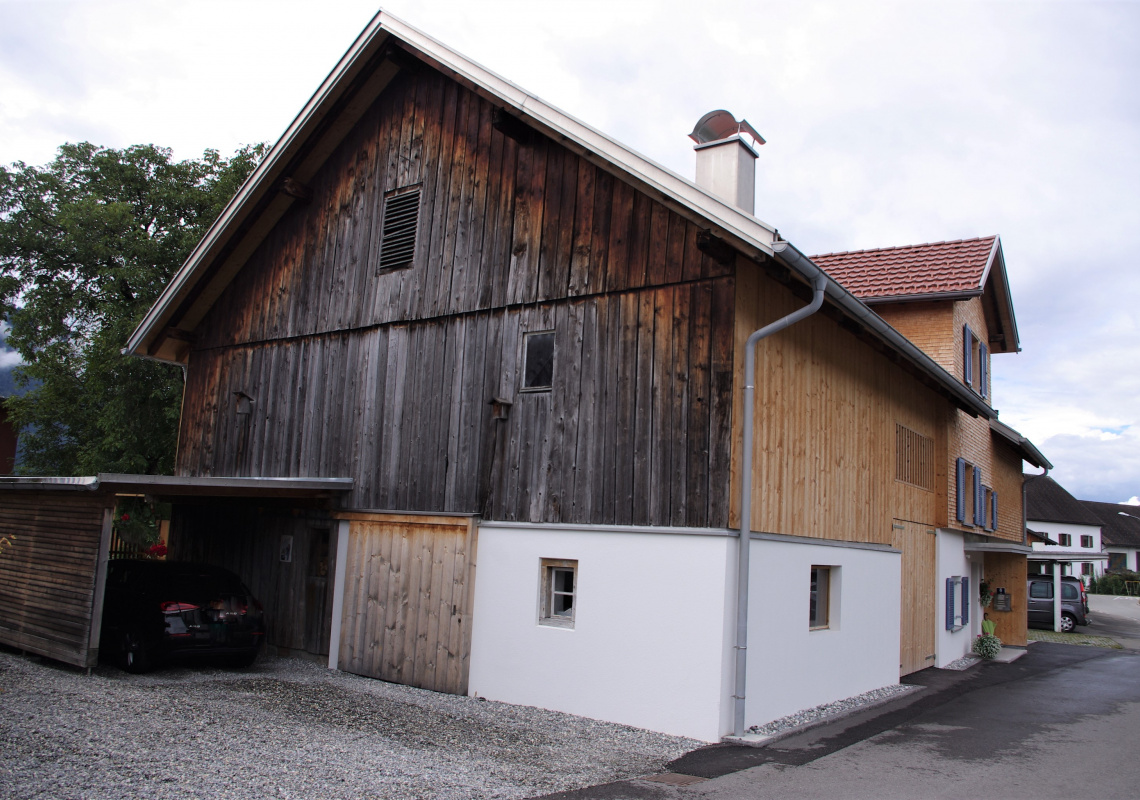
M 923 670 L 903 700 L 763 749 L 714 745 L 669 765 L 705 777 L 627 781 L 559 800 L 1134 798 L 1140 653 L 1035 643 L 961 674 Z

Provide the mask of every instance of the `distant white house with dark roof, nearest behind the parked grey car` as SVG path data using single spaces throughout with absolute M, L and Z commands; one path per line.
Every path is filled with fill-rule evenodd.
M 1102 504 L 1108 505 L 1108 504 Z M 1029 572 L 1080 575 L 1085 582 L 1105 570 L 1100 517 L 1049 475 L 1025 476 L 1026 524 L 1048 542 L 1033 542 Z

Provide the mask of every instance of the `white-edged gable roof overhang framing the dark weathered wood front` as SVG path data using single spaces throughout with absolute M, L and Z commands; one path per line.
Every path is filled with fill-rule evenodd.
M 811 284 L 820 268 L 775 229 L 544 103 L 410 25 L 380 11 L 190 253 L 128 340 L 125 351 L 184 362 L 194 330 L 336 146 L 409 59 L 488 98 L 506 115 L 629 182 L 756 261 L 775 259 Z M 516 124 L 516 123 L 515 123 Z M 826 275 L 828 304 L 898 353 L 928 385 L 974 416 L 995 413 L 968 386 Z

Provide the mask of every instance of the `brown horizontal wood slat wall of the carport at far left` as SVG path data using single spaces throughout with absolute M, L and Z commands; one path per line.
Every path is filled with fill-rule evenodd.
M 0 642 L 78 667 L 92 646 L 104 509 L 87 492 L 0 493 Z

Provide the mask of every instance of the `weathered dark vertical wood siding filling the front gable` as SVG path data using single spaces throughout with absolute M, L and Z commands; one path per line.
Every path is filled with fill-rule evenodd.
M 727 523 L 734 266 L 492 111 L 427 68 L 393 81 L 199 326 L 180 473 L 349 475 L 357 508 Z M 415 183 L 415 261 L 377 275 L 384 191 Z M 544 329 L 554 389 L 520 392 Z

